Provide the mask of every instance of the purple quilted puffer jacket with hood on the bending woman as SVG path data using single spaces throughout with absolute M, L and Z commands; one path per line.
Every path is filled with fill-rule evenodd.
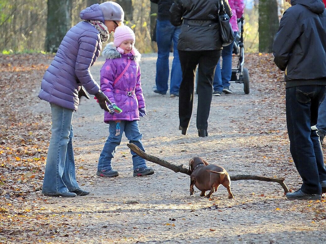
M 104 23 L 98 4 L 82 10 L 80 17 L 82 20 L 99 20 Z M 43 76 L 38 97 L 77 111 L 81 85 L 92 95 L 100 89 L 89 68 L 97 60 L 101 49 L 100 35 L 93 25 L 81 21 L 73 26 L 63 38 Z

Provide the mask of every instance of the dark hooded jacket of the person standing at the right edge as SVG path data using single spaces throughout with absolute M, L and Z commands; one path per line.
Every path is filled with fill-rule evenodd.
M 275 35 L 275 64 L 286 87 L 326 85 L 326 10 L 320 0 L 291 0 Z

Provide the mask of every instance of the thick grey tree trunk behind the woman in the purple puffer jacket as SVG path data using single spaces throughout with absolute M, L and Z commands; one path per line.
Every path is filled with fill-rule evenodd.
M 71 28 L 72 0 L 48 0 L 45 50 L 56 52 Z

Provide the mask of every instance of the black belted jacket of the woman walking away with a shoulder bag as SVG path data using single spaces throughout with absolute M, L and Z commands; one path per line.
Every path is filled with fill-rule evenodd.
M 181 26 L 178 50 L 220 50 L 217 0 L 175 0 L 170 8 L 171 23 Z

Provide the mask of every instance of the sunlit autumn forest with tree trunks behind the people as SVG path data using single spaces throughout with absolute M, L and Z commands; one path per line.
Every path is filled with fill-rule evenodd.
M 79 12 L 103 0 L 0 0 L 0 51 L 3 54 L 55 52 L 67 30 L 80 21 Z M 152 42 L 157 5 L 150 0 L 115 0 L 125 10 L 126 24 L 136 34 L 141 53 L 156 51 Z M 244 0 L 246 52 L 271 52 L 285 0 Z M 111 35 L 112 40 L 112 35 Z M 109 40 L 110 41 L 110 40 Z

